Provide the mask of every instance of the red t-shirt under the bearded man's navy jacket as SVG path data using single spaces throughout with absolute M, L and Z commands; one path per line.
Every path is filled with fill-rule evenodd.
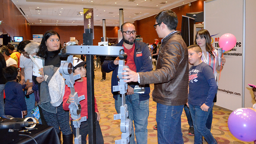
M 122 45 L 122 47 L 124 47 L 124 45 Z M 136 65 L 134 63 L 134 49 L 135 49 L 135 44 L 133 44 L 132 48 L 129 50 L 126 47 L 124 47 L 124 52 L 127 54 L 125 65 L 129 66 L 130 70 L 137 72 Z

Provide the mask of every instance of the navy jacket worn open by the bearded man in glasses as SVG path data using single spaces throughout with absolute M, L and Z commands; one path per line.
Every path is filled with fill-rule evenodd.
M 121 40 L 119 43 L 112 45 L 112 46 L 119 46 L 122 47 L 123 40 Z M 142 55 L 140 54 L 142 53 Z M 112 73 L 112 79 L 111 79 L 111 92 L 113 94 L 114 99 L 117 100 L 117 96 L 119 95 L 119 92 L 113 92 L 113 86 L 118 85 L 118 78 L 117 78 L 117 71 L 118 71 L 118 65 L 114 64 L 114 60 L 117 57 L 115 56 L 107 56 L 105 58 L 105 61 L 102 65 L 102 69 L 109 73 L 113 71 Z M 149 47 L 144 42 L 138 42 L 135 41 L 135 49 L 134 49 L 134 63 L 136 66 L 137 72 L 146 72 L 152 70 L 152 57 L 151 53 L 149 51 Z M 132 88 L 135 87 L 135 85 L 139 85 L 139 83 L 128 83 L 129 86 Z M 139 101 L 144 101 L 149 99 L 149 93 L 150 93 L 150 86 L 149 84 L 145 84 L 142 87 L 145 87 L 145 93 L 139 94 Z

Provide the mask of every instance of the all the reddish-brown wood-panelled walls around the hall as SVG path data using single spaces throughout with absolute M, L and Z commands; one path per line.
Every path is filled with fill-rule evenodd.
M 177 30 L 181 30 L 182 15 L 186 15 L 189 12 L 204 11 L 204 1 L 197 0 L 191 2 L 191 6 L 185 4 L 183 6 L 172 9 L 178 16 Z M 0 0 L 0 20 L 3 20 L 0 25 L 0 32 L 8 33 L 10 36 L 23 36 L 24 39 L 32 39 L 32 34 L 44 34 L 47 30 L 55 30 L 61 37 L 61 43 L 68 42 L 70 37 L 76 37 L 79 40 L 79 45 L 82 44 L 83 26 L 36 26 L 29 25 L 27 20 L 12 3 L 11 0 Z M 3 6 L 5 6 L 3 8 Z M 155 15 L 154 15 L 155 16 Z M 158 37 L 155 28 L 154 16 L 147 17 L 141 20 L 135 20 L 134 25 L 137 30 L 137 35 L 141 35 L 143 42 L 154 43 L 154 39 Z M 109 38 L 117 38 L 117 31 L 119 27 L 106 27 L 106 34 Z M 103 36 L 102 27 L 94 26 L 94 40 L 93 45 L 98 45 L 101 42 Z

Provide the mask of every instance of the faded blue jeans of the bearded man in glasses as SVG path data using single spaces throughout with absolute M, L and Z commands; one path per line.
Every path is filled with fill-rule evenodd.
M 116 112 L 119 114 L 120 106 L 122 106 L 122 97 L 118 96 L 117 98 L 118 100 L 115 100 L 115 107 Z M 129 111 L 128 118 L 134 122 L 137 144 L 147 143 L 147 118 L 149 117 L 149 99 L 145 101 L 139 101 L 138 93 L 126 95 L 125 99 Z M 133 126 L 132 134 L 130 135 L 130 144 L 135 144 Z

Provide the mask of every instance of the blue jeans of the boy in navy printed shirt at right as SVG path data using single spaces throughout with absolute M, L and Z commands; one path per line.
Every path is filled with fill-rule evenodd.
M 189 110 L 194 125 L 194 144 L 202 144 L 202 136 L 209 144 L 217 144 L 217 141 L 212 136 L 212 133 L 206 128 L 205 123 L 209 115 L 208 112 L 203 111 L 200 106 L 189 103 Z

